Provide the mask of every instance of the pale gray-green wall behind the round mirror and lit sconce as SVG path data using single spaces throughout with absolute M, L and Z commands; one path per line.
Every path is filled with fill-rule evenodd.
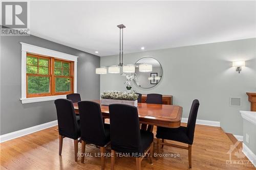
M 124 50 L 125 51 L 125 50 Z M 193 99 L 199 99 L 198 119 L 221 122 L 225 132 L 243 135 L 240 110 L 250 110 L 246 92 L 256 91 L 256 39 L 244 39 L 202 45 L 167 48 L 124 55 L 125 63 L 151 56 L 163 67 L 163 78 L 151 89 L 133 85 L 140 93 L 161 93 L 174 96 L 174 104 L 183 107 L 188 117 Z M 115 65 L 118 56 L 100 58 L 100 64 Z M 231 61 L 245 60 L 241 74 Z M 124 77 L 116 74 L 100 76 L 100 91 L 125 90 Z M 230 107 L 230 97 L 241 97 L 242 107 Z

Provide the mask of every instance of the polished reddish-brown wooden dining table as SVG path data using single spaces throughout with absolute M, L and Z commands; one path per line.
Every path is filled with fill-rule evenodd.
M 100 100 L 93 102 L 99 103 Z M 76 113 L 79 113 L 78 104 L 74 103 Z M 109 106 L 100 105 L 103 118 L 110 118 Z M 179 128 L 182 117 L 182 107 L 175 105 L 159 105 L 138 103 L 139 122 L 167 128 Z M 121 114 L 121 113 L 120 113 Z

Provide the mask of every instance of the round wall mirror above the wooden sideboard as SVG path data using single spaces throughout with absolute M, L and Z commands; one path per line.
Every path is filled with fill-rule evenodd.
M 152 71 L 140 72 L 139 64 L 151 64 Z M 135 84 L 141 88 L 152 88 L 156 86 L 162 79 L 163 70 L 161 64 L 152 57 L 143 57 L 136 62 L 135 73 L 137 80 Z

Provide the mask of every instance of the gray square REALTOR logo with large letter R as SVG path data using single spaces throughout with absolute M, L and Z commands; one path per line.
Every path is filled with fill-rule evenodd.
M 29 35 L 28 2 L 2 2 L 2 36 Z

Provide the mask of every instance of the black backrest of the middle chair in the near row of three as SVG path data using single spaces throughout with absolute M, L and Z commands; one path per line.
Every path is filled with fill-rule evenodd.
M 104 146 L 105 133 L 100 105 L 91 101 L 78 102 L 81 139 Z

